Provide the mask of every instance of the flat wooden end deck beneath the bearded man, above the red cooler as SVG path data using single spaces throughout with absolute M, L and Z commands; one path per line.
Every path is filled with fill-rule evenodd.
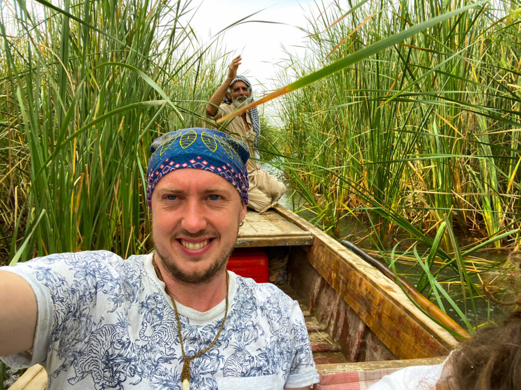
M 275 210 L 264 213 L 248 211 L 239 229 L 235 248 L 251 246 L 311 245 L 311 232 L 290 222 Z

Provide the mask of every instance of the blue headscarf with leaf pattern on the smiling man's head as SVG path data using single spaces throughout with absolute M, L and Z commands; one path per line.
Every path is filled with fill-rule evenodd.
M 225 178 L 248 204 L 246 161 L 250 152 L 243 142 L 217 130 L 194 127 L 156 138 L 150 150 L 146 187 L 149 207 L 157 182 L 167 173 L 182 168 L 209 171 Z

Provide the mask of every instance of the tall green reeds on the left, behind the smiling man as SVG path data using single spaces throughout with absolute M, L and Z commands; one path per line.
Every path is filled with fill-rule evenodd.
M 147 146 L 201 126 L 222 54 L 191 2 L 15 2 L 0 23 L 0 251 L 149 250 Z M 42 15 L 43 12 L 43 15 Z M 184 23 L 184 24 L 183 24 Z M 17 31 L 16 36 L 7 30 Z

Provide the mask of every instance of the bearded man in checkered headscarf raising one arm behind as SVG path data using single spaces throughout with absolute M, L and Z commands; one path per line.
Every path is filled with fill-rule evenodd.
M 228 76 L 215 91 L 206 105 L 208 118 L 217 120 L 235 111 L 252 96 L 252 85 L 246 77 L 237 75 L 241 56 L 235 57 L 228 70 Z M 235 116 L 227 125 L 226 131 L 243 141 L 250 150 L 250 155 L 259 158 L 258 146 L 261 126 L 257 108 Z M 248 160 L 246 164 L 250 178 L 250 202 L 248 206 L 255 211 L 263 211 L 277 202 L 286 187 L 277 178 L 261 170 L 258 161 Z

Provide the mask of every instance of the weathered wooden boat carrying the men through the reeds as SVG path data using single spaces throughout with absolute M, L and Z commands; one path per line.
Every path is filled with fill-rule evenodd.
M 248 212 L 235 247 L 288 255 L 281 288 L 301 304 L 321 378 L 439 363 L 458 343 L 394 280 L 283 206 Z M 448 316 L 441 320 L 465 333 Z M 11 390 L 40 390 L 46 382 L 45 370 L 33 366 Z

